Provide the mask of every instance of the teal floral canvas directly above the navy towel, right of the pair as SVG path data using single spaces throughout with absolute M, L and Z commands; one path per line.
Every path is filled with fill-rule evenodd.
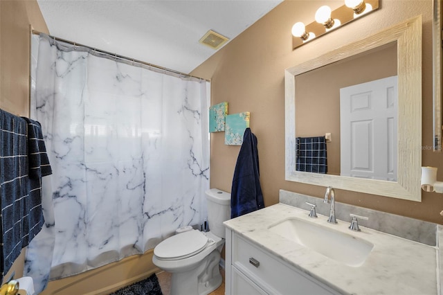
M 226 116 L 225 145 L 242 145 L 244 130 L 249 127 L 250 118 L 251 114 L 249 111 Z

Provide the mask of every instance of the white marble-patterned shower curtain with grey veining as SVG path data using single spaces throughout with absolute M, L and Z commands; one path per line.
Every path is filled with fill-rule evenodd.
M 54 218 L 28 248 L 25 275 L 42 289 L 45 265 L 49 279 L 71 276 L 203 222 L 210 84 L 43 34 L 33 39 L 31 115 L 53 167 L 46 189 Z

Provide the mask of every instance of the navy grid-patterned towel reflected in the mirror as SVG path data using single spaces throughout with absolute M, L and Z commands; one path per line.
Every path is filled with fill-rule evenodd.
M 327 173 L 325 136 L 297 137 L 296 170 L 303 172 Z

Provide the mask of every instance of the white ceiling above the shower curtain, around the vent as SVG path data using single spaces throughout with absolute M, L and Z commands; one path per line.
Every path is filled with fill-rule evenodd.
M 230 40 L 282 0 L 37 0 L 51 35 L 190 73 L 216 51 L 208 30 Z

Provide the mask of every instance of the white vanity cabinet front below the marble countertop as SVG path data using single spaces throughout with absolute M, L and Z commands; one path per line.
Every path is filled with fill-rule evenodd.
M 226 295 L 340 294 L 226 229 Z

